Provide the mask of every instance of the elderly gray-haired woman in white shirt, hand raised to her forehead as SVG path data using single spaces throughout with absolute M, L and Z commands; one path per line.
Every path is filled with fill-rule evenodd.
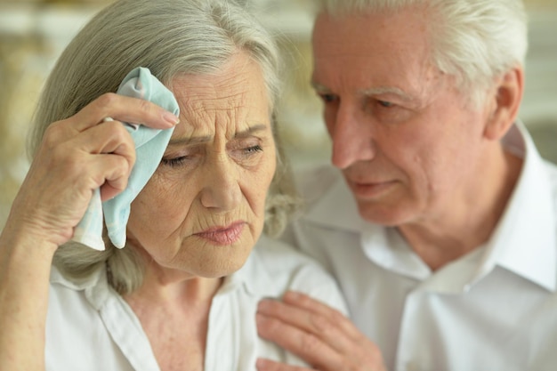
M 180 124 L 114 93 L 139 66 L 174 93 Z M 295 205 L 277 98 L 276 45 L 237 4 L 124 0 L 93 18 L 44 87 L 35 156 L 0 237 L 0 369 L 296 363 L 258 338 L 260 299 L 294 289 L 343 302 L 319 266 L 260 239 Z M 71 240 L 96 190 L 114 198 L 140 165 L 122 123 L 174 132 L 133 200 L 125 247 L 105 228 L 97 251 Z

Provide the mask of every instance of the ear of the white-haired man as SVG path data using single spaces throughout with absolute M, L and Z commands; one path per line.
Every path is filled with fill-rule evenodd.
M 513 125 L 521 107 L 524 93 L 524 71 L 515 67 L 497 81 L 491 113 L 485 128 L 485 137 L 498 141 Z

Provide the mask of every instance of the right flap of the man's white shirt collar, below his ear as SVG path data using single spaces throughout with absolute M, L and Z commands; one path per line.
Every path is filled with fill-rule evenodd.
M 476 278 L 498 265 L 555 291 L 555 211 L 547 165 L 520 122 L 513 125 L 503 142 L 507 149 L 522 155 L 524 163 L 506 210 L 486 244 Z

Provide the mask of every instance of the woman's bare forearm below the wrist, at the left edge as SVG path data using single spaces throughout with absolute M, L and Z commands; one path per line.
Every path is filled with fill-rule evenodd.
M 56 250 L 9 220 L 0 236 L 0 369 L 44 370 L 50 262 Z

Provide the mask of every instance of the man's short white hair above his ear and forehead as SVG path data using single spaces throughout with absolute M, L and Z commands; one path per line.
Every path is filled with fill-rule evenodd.
M 316 0 L 333 16 L 396 12 L 422 6 L 429 14 L 432 63 L 456 77 L 456 85 L 478 108 L 494 79 L 523 66 L 528 25 L 521 0 Z

